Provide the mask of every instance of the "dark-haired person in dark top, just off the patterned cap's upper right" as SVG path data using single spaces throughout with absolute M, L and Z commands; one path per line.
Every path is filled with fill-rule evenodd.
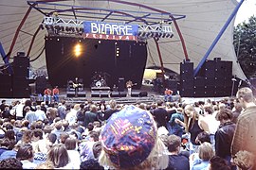
M 156 126 L 157 127 L 166 127 L 167 128 L 167 120 L 168 112 L 165 110 L 163 106 L 163 100 L 157 101 L 157 108 L 155 110 L 152 110 L 152 114 L 154 116 Z

